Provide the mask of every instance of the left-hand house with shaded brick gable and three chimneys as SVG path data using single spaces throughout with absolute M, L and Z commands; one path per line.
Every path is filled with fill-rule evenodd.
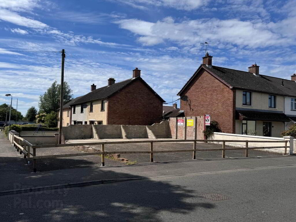
M 151 125 L 162 119 L 165 101 L 133 70 L 130 79 L 96 89 L 70 102 L 70 124 Z M 67 107 L 66 107 L 67 108 Z

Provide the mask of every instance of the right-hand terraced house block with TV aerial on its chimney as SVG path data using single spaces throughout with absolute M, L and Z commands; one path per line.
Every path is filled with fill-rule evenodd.
M 178 93 L 185 116 L 211 115 L 223 132 L 278 137 L 296 121 L 296 75 L 291 80 L 212 65 L 208 53 Z

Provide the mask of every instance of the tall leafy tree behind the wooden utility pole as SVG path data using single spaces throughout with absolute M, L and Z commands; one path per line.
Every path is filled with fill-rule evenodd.
M 52 83 L 46 92 L 39 97 L 39 110 L 40 112 L 51 113 L 52 111 L 57 112 L 59 108 L 59 97 L 60 97 L 61 85 L 57 84 L 57 81 Z M 63 104 L 70 102 L 73 98 L 72 89 L 67 82 L 64 82 L 64 94 Z

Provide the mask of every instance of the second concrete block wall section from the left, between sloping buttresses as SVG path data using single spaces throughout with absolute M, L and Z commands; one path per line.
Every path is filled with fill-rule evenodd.
M 91 125 L 88 125 L 91 126 Z M 121 139 L 123 138 L 120 125 L 93 125 L 98 139 Z

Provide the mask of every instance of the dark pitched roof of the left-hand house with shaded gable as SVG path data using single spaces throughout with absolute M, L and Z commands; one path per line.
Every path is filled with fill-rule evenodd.
M 99 89 L 95 89 L 88 94 L 81 96 L 81 98 L 77 99 L 71 105 L 108 98 L 136 80 L 142 81 L 162 102 L 165 102 L 140 76 L 138 76 L 136 78 L 131 78 L 118 83 L 114 83 L 111 86 L 103 86 Z

